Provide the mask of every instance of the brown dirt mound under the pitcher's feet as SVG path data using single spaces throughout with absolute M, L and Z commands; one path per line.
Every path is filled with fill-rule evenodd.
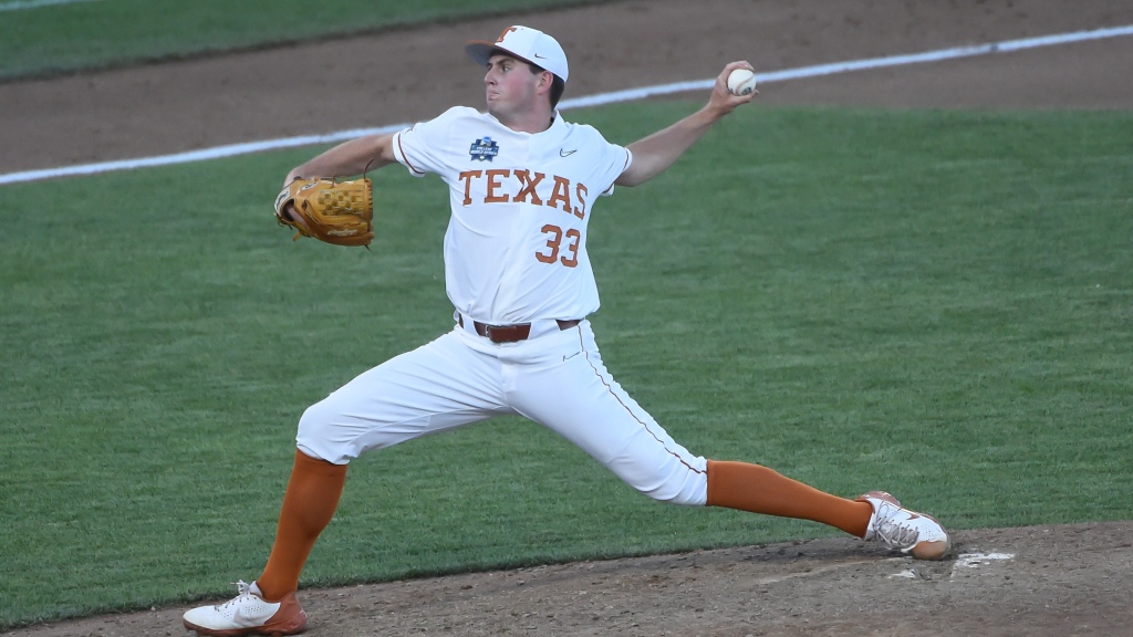
M 312 636 L 1131 635 L 1133 523 L 978 529 L 942 562 L 816 540 L 303 591 Z M 181 635 L 186 609 L 11 637 Z

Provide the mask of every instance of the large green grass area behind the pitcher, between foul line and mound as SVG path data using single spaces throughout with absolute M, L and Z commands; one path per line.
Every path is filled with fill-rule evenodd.
M 569 113 L 629 143 L 696 108 Z M 953 528 L 1130 519 L 1133 113 L 746 108 L 600 202 L 605 360 L 674 436 Z M 446 194 L 292 244 L 318 148 L 0 188 L 0 628 L 258 575 L 303 409 L 442 333 Z M 207 185 L 207 187 L 202 187 Z M 503 419 L 363 457 L 304 586 L 832 535 Z

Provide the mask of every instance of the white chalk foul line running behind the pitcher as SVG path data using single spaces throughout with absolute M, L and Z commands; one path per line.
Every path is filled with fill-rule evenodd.
M 52 0 L 41 0 L 43 2 Z M 66 1 L 66 0 L 53 0 Z M 2 7 L 2 5 L 0 5 Z M 794 69 L 778 70 L 757 75 L 760 83 L 784 82 L 787 79 L 801 79 L 804 77 L 817 77 L 823 75 L 834 75 L 840 73 L 851 73 L 855 70 L 876 69 L 883 67 L 894 67 L 903 65 L 917 65 L 925 62 L 937 62 L 956 58 L 971 58 L 976 56 L 988 56 L 991 53 L 1006 53 L 1022 51 L 1038 46 L 1053 46 L 1056 44 L 1071 44 L 1074 42 L 1085 42 L 1089 40 L 1102 40 L 1106 37 L 1119 37 L 1133 35 L 1133 25 L 1113 28 L 1099 28 L 1096 31 L 1081 31 L 1076 33 L 1063 33 L 1057 35 L 1045 35 L 1040 37 L 1026 37 L 1023 40 L 1010 40 L 1006 42 L 993 42 L 989 44 L 977 44 L 973 46 L 960 46 L 955 49 L 943 49 L 926 53 L 913 53 L 906 56 L 889 56 L 885 58 L 869 58 L 847 62 L 835 62 L 829 65 L 817 65 L 800 67 Z M 615 91 L 573 100 L 563 100 L 560 109 L 596 107 L 612 104 L 615 102 L 629 102 L 641 100 L 651 95 L 668 95 L 683 93 L 687 91 L 705 91 L 712 88 L 716 79 L 702 79 L 697 82 L 679 82 L 646 88 L 631 88 L 628 91 Z M 155 165 L 169 165 L 174 163 L 188 163 L 194 161 L 207 161 L 214 159 L 230 158 L 236 155 L 259 153 L 279 148 L 290 148 L 295 146 L 307 146 L 314 144 L 329 144 L 333 142 L 346 142 L 364 135 L 380 135 L 384 133 L 395 133 L 408 127 L 409 124 L 394 126 L 383 126 L 381 128 L 357 128 L 353 130 L 340 130 L 326 135 L 304 135 L 300 137 L 286 137 L 282 139 L 266 139 L 263 142 L 247 142 L 244 144 L 229 144 L 215 146 L 199 151 L 189 151 L 171 155 L 160 155 L 152 158 L 140 158 L 133 160 L 108 161 L 99 163 L 87 163 L 82 165 L 70 165 L 65 168 L 49 168 L 42 170 L 27 170 L 23 172 L 9 172 L 0 175 L 0 186 L 5 184 L 17 184 L 20 181 L 34 181 L 36 179 L 51 179 L 56 177 L 70 177 L 76 175 L 93 175 L 96 172 L 109 172 L 114 170 L 134 170 L 138 168 L 150 168 Z

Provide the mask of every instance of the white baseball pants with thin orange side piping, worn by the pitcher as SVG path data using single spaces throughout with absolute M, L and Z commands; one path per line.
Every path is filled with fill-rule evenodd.
M 518 414 L 551 427 L 641 493 L 704 506 L 707 462 L 673 441 L 602 364 L 589 321 L 493 343 L 453 331 L 364 372 L 299 421 L 308 456 L 344 465 L 364 451 L 493 416 Z

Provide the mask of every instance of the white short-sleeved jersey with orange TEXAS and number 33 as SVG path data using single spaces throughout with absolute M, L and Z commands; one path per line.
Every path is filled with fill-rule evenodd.
M 410 173 L 449 185 L 445 282 L 459 312 L 512 324 L 598 309 L 586 229 L 628 150 L 557 114 L 533 135 L 466 107 L 398 133 L 393 147 Z

